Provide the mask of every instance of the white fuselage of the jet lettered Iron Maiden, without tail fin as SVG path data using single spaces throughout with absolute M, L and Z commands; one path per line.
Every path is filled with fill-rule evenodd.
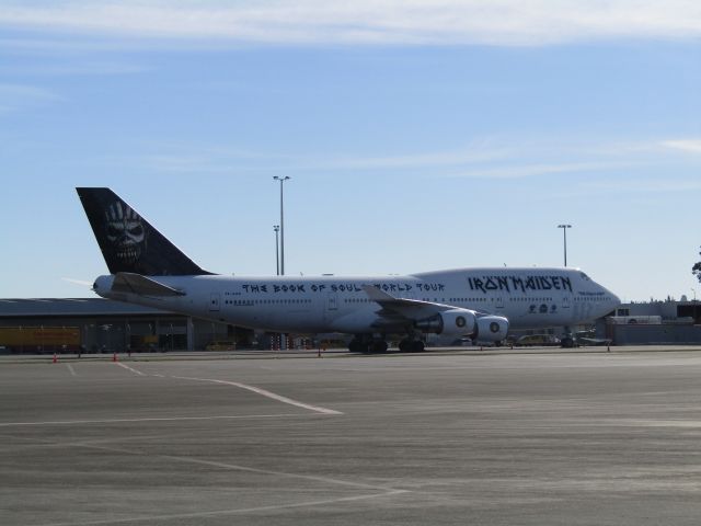
M 508 319 L 512 329 L 576 325 L 605 316 L 619 298 L 575 268 L 461 268 L 381 277 L 151 276 L 182 296 L 111 290 L 101 276 L 95 291 L 134 302 L 239 327 L 279 332 L 372 333 L 404 329 L 379 316 L 363 286 L 395 297 L 430 301 Z

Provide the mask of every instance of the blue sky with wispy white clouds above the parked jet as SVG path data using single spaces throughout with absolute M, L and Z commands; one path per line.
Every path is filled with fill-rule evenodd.
M 701 298 L 701 4 L 0 2 L 0 297 L 106 273 L 74 186 L 202 266 L 568 263 Z

